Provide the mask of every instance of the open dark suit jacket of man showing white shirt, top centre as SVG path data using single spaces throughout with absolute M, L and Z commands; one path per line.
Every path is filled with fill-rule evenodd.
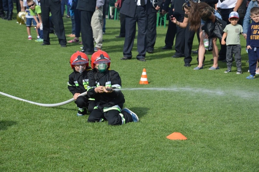
M 120 9 L 120 13 L 130 16 L 130 17 L 134 17 L 135 16 L 135 12 L 136 12 L 136 8 L 137 8 L 137 0 L 125 0 L 123 2 L 123 5 Z M 147 0 L 147 4 L 146 4 L 146 15 L 151 14 L 152 10 L 151 10 L 151 3 L 150 0 Z

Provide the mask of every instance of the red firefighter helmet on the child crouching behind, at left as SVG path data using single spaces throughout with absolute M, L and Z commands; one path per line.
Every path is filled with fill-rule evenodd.
M 85 64 L 86 67 L 88 67 L 89 59 L 85 53 L 77 51 L 74 54 L 72 54 L 72 56 L 70 57 L 69 63 L 72 69 L 74 69 L 75 65 L 81 65 L 81 64 Z

